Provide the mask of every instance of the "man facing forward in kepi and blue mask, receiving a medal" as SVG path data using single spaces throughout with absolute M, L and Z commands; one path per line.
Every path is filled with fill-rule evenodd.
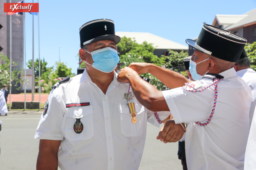
M 159 126 L 170 112 L 158 113 L 157 120 L 129 83 L 117 81 L 119 41 L 112 20 L 80 28 L 79 55 L 86 69 L 53 86 L 35 134 L 38 170 L 139 168 L 147 121 Z

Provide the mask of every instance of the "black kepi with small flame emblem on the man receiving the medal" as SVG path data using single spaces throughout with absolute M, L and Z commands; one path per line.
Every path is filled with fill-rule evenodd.
M 97 19 L 85 23 L 79 29 L 80 45 L 90 44 L 101 40 L 111 40 L 116 44 L 121 40 L 115 35 L 115 24 L 110 19 Z

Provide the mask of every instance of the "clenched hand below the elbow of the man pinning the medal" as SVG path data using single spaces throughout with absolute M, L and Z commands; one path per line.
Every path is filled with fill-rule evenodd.
M 163 141 L 164 143 L 177 142 L 182 138 L 184 133 L 185 129 L 183 126 L 180 123 L 175 124 L 172 119 L 165 122 L 156 139 L 160 139 L 160 141 Z

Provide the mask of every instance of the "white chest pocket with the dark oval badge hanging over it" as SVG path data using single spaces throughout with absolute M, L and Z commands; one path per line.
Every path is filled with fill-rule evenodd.
M 92 106 L 68 108 L 65 134 L 69 141 L 80 141 L 91 139 L 94 135 Z M 77 134 L 74 125 L 80 119 L 82 132 Z

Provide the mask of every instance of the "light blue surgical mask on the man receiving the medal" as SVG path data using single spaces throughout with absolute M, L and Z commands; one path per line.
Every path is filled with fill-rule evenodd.
M 93 68 L 104 73 L 110 73 L 116 69 L 117 63 L 119 61 L 117 50 L 106 47 L 104 49 L 95 50 L 90 54 L 92 55 L 93 63 L 89 64 L 88 62 L 85 62 L 91 65 Z

